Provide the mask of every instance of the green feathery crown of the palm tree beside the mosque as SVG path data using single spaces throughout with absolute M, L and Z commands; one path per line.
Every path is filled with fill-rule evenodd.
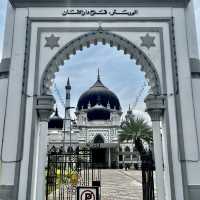
M 130 118 L 121 124 L 121 133 L 119 134 L 119 142 L 138 140 L 147 142 L 149 145 L 153 142 L 152 128 L 143 118 Z M 137 148 L 137 145 L 136 145 Z

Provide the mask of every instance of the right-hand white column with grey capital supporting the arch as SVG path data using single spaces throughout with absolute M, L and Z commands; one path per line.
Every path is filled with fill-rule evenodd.
M 152 121 L 153 129 L 153 144 L 154 144 L 154 159 L 156 166 L 156 190 L 158 200 L 165 199 L 165 184 L 164 184 L 164 161 L 163 161 L 163 145 L 160 132 L 160 118 L 163 115 L 164 98 L 162 96 L 148 95 L 145 99 L 147 112 Z

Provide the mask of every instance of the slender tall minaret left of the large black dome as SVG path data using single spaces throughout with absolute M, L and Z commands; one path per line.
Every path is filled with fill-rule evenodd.
M 71 123 L 71 116 L 70 116 L 70 92 L 71 92 L 71 85 L 69 78 L 67 79 L 67 85 L 65 86 L 66 89 L 66 99 L 65 99 L 65 131 L 70 131 L 70 123 Z

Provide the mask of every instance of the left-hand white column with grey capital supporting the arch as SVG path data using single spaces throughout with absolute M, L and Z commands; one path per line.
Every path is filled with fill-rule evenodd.
M 39 122 L 39 140 L 37 152 L 37 179 L 36 179 L 36 199 L 45 199 L 45 166 L 47 164 L 47 144 L 48 144 L 48 120 L 53 112 L 53 96 L 41 96 L 37 99 L 37 112 Z

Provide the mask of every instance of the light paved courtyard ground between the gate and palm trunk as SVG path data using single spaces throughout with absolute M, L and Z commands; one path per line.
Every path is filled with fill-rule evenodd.
M 102 170 L 101 200 L 142 200 L 141 171 Z

